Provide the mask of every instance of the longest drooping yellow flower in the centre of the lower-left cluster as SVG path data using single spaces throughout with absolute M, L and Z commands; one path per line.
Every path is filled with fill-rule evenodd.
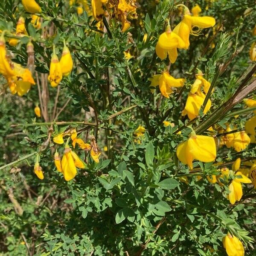
M 72 180 L 76 176 L 76 165 L 71 154 L 71 149 L 68 146 L 64 150 L 64 155 L 61 160 L 61 168 L 65 180 Z

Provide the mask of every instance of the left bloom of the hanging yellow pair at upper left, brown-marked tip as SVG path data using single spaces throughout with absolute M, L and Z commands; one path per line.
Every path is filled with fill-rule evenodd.
M 58 61 L 58 56 L 55 54 L 55 49 L 53 49 L 48 81 L 50 82 L 52 87 L 56 87 L 60 83 L 61 79 L 62 79 L 61 64 Z

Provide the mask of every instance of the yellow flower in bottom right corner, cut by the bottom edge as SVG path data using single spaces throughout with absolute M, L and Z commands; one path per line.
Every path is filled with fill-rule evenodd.
M 236 236 L 227 233 L 227 236 L 222 239 L 222 243 L 228 256 L 244 256 L 243 244 Z

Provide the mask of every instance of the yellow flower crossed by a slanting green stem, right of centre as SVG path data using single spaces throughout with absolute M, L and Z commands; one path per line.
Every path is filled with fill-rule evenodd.
M 182 115 L 183 116 L 188 115 L 190 120 L 197 117 L 199 114 L 199 110 L 204 103 L 204 99 L 205 99 L 205 94 L 202 93 L 201 91 L 196 92 L 195 94 L 189 93 L 185 108 L 182 111 Z M 203 113 L 204 114 L 207 113 L 207 111 L 209 111 L 210 108 L 211 108 L 211 101 L 208 99 L 208 102 L 204 108 Z

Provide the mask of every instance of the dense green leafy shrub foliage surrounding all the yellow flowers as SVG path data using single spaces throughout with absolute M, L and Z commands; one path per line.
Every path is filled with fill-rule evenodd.
M 248 52 L 255 41 L 251 36 L 255 4 L 249 0 L 197 1 L 202 16 L 215 17 L 217 25 L 223 26 L 191 36 L 189 49 L 179 50 L 177 61 L 169 66 L 168 58 L 161 61 L 155 53 L 158 37 L 166 18 L 172 28 L 180 22 L 177 3 L 185 2 L 191 9 L 195 1 L 138 1 L 138 18 L 126 32 L 112 17 L 104 19 L 104 32 L 98 31 L 89 12 L 76 14 L 78 4 L 38 2 L 43 10 L 41 29 L 32 26 L 31 17 L 16 0 L 0 3 L 0 29 L 13 32 L 18 17 L 26 18 L 41 86 L 47 83 L 52 44 L 60 56 L 65 40 L 75 65 L 70 76 L 62 79 L 58 97 L 57 88 L 48 85 L 44 91 L 47 118 L 35 118 L 34 107 L 40 102 L 37 85 L 21 98 L 11 95 L 5 79 L 0 78 L 0 256 L 221 256 L 225 255 L 222 238 L 227 232 L 243 242 L 247 255 L 254 255 L 255 189 L 250 184 L 243 186 L 243 198 L 231 205 L 227 195 L 232 177 L 222 179 L 222 186 L 207 178 L 220 174 L 215 164 L 231 169 L 238 157 L 256 159 L 255 145 L 239 153 L 218 147 L 214 165 L 195 161 L 192 171 L 178 161 L 176 148 L 189 137 L 187 125 L 196 129 L 208 120 L 234 95 L 252 67 Z M 52 29 L 52 33 L 43 37 L 42 29 Z M 6 40 L 11 37 L 9 33 Z M 28 37 L 23 37 L 17 47 L 7 44 L 12 60 L 23 66 L 27 42 Z M 127 50 L 133 55 L 129 60 L 124 58 Z M 189 122 L 181 112 L 197 69 L 212 82 L 212 108 Z M 169 99 L 158 88 L 150 92 L 149 79 L 163 70 L 186 78 L 185 87 Z M 243 129 L 252 111 L 241 113 L 238 119 L 232 115 L 243 106 L 238 103 L 231 112 L 224 110 L 209 126 L 225 129 L 229 123 Z M 57 118 L 55 113 L 59 113 Z M 164 120 L 174 126 L 164 127 Z M 139 125 L 145 127 L 142 137 L 134 133 Z M 76 128 L 78 137 L 87 143 L 95 136 L 102 155 L 95 163 L 87 151 L 76 147 L 74 151 L 87 167 L 67 182 L 56 170 L 53 156 L 56 148 L 63 155 L 64 144 L 57 145 L 52 138 L 68 128 Z M 209 134 L 208 127 L 203 128 L 202 133 Z M 33 173 L 37 157 L 44 180 Z

